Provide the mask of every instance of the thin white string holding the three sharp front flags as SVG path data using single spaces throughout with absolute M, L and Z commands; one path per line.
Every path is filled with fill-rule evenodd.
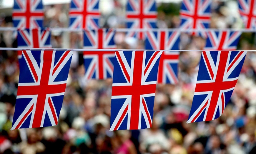
M 20 51 L 20 50 L 56 50 L 56 51 L 205 51 L 205 50 L 143 50 L 143 49 L 72 49 L 72 48 L 0 48 L 0 50 L 13 50 L 13 51 Z M 218 50 L 211 50 L 211 51 L 218 51 Z M 222 51 L 229 51 L 229 50 L 222 50 Z M 247 51 L 247 52 L 256 52 L 256 50 L 232 50 L 232 51 Z

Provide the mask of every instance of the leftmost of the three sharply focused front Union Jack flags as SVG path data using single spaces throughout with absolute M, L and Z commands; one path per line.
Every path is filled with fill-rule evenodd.
M 72 53 L 22 51 L 12 130 L 57 125 Z

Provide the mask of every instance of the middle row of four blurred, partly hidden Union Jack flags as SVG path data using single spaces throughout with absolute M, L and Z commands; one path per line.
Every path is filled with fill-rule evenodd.
M 177 31 L 147 31 L 144 32 L 145 49 L 179 50 Z M 112 29 L 84 30 L 85 49 L 115 49 L 115 31 Z M 210 31 L 205 50 L 236 50 L 241 32 Z M 18 47 L 21 48 L 51 48 L 49 29 L 24 29 L 18 31 Z M 19 52 L 21 58 L 21 52 Z M 114 51 L 84 52 L 84 67 L 86 79 L 107 79 L 113 77 Z M 157 83 L 178 83 L 179 52 L 164 51 L 160 58 Z

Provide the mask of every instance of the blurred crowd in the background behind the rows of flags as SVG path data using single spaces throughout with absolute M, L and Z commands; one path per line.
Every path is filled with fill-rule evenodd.
M 70 0 L 43 1 L 46 27 L 67 27 Z M 100 0 L 101 27 L 123 28 L 124 0 Z M 12 27 L 13 1 L 0 1 L 0 26 Z M 179 26 L 179 0 L 157 0 L 159 28 Z M 213 0 L 211 28 L 242 28 L 237 1 Z M 82 48 L 81 33 L 52 31 L 53 48 Z M 143 41 L 117 33 L 119 49 L 143 49 Z M 255 33 L 243 33 L 238 50 L 255 50 Z M 205 40 L 181 35 L 180 48 L 202 50 Z M 16 47 L 12 31 L 0 32 L 0 47 Z M 256 52 L 248 52 L 223 115 L 187 124 L 200 52 L 181 52 L 179 83 L 157 85 L 152 128 L 109 131 L 112 80 L 86 81 L 82 52 L 74 52 L 59 123 L 10 130 L 19 80 L 16 51 L 0 51 L 0 153 L 4 154 L 256 154 Z

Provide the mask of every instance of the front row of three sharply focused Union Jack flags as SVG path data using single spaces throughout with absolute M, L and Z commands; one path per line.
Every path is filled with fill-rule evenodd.
M 222 115 L 246 53 L 202 51 L 188 123 Z M 110 130 L 152 126 L 155 72 L 159 72 L 162 55 L 162 51 L 114 51 Z M 72 51 L 22 50 L 12 129 L 58 123 L 71 58 Z

